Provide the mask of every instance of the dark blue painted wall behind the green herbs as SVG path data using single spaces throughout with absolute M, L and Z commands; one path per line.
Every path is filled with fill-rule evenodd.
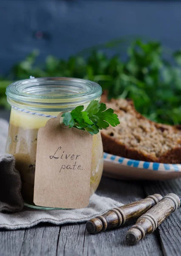
M 0 74 L 40 49 L 67 58 L 125 35 L 181 47 L 181 1 L 0 0 Z

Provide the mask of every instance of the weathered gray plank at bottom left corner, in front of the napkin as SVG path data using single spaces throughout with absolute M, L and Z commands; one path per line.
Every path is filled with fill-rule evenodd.
M 27 230 L 0 231 L 2 256 L 56 256 L 60 227 L 39 225 Z

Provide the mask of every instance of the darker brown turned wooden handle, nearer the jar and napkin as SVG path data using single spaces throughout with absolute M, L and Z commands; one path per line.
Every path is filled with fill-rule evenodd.
M 147 198 L 131 204 L 114 208 L 86 223 L 86 229 L 91 234 L 99 233 L 107 229 L 120 227 L 126 221 L 138 218 L 162 199 L 159 194 L 149 195 Z

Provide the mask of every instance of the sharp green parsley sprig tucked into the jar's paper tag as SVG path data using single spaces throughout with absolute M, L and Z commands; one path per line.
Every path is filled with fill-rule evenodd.
M 69 128 L 86 130 L 92 135 L 109 125 L 115 127 L 120 123 L 113 109 L 106 109 L 105 103 L 99 103 L 98 100 L 92 100 L 85 111 L 83 110 L 84 106 L 78 106 L 71 112 L 63 113 L 63 123 L 69 125 Z

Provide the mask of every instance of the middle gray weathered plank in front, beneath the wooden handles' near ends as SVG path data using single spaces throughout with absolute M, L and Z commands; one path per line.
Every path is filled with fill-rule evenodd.
M 142 243 L 129 246 L 124 239 L 127 229 L 125 226 L 118 230 L 90 235 L 85 231 L 85 224 L 66 225 L 61 228 L 57 255 L 162 255 L 156 234 L 148 236 Z

